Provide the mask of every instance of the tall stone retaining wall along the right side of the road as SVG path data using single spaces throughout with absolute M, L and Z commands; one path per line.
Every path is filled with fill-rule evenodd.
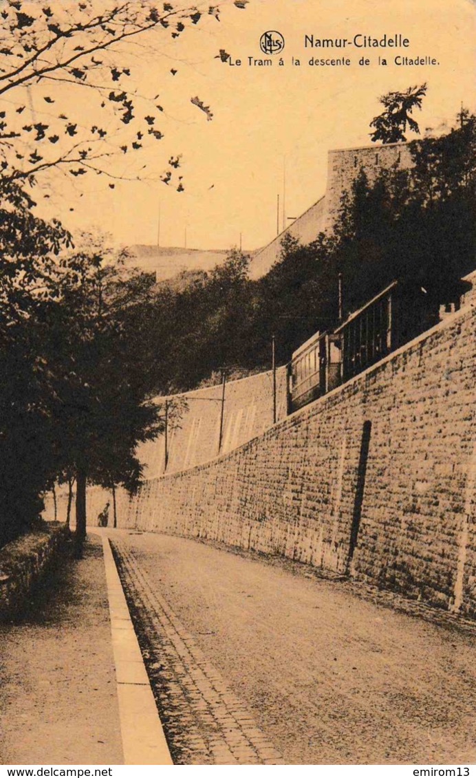
M 476 614 L 475 336 L 468 305 L 233 453 L 153 478 L 120 523 Z

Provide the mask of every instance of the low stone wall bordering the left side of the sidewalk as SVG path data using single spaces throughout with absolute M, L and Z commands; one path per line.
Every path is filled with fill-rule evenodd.
M 29 532 L 0 549 L 0 620 L 21 608 L 51 562 L 64 550 L 64 524 Z

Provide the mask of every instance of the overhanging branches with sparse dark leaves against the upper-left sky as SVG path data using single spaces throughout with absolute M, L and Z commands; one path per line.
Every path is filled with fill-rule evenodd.
M 244 7 L 239 0 L 233 5 Z M 177 39 L 206 16 L 220 18 L 219 5 L 209 3 L 105 0 L 99 6 L 94 0 L 66 0 L 54 8 L 33 0 L 2 4 L 0 187 L 4 180 L 30 180 L 51 169 L 76 178 L 90 172 L 119 177 L 110 170 L 111 156 L 139 152 L 163 138 L 159 95 L 138 89 L 126 44 L 142 40 L 156 47 L 158 34 Z M 76 103 L 68 100 L 65 107 L 72 90 Z M 191 102 L 208 110 L 198 97 Z M 88 126 L 82 121 L 85 104 L 88 115 L 94 110 L 96 116 Z M 171 156 L 162 177 L 166 184 L 178 167 L 179 156 Z M 177 188 L 183 189 L 180 177 Z

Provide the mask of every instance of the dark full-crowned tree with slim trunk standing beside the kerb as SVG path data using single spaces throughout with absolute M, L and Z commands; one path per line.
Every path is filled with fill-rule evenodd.
M 163 431 L 149 400 L 149 357 L 124 316 L 138 304 L 138 273 L 121 275 L 111 251 L 86 237 L 60 261 L 58 303 L 51 309 L 47 363 L 53 376 L 54 450 L 76 480 L 76 550 L 86 536 L 86 484 L 134 492 L 142 465 L 138 443 Z M 109 262 L 109 264 L 108 264 Z M 129 292 L 128 292 L 129 289 Z

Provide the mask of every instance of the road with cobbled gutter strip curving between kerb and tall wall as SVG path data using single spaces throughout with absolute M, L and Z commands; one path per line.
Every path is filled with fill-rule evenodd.
M 305 566 L 111 533 L 179 764 L 476 762 L 476 627 Z

